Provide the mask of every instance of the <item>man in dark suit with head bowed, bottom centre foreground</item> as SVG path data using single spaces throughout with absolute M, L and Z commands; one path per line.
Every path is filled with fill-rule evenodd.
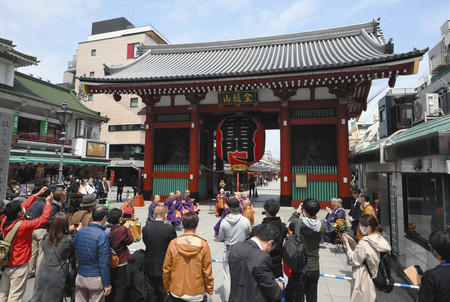
M 257 225 L 250 239 L 236 243 L 228 257 L 231 275 L 230 302 L 281 301 L 283 284 L 272 272 L 269 253 L 280 241 L 280 232 L 270 224 Z

